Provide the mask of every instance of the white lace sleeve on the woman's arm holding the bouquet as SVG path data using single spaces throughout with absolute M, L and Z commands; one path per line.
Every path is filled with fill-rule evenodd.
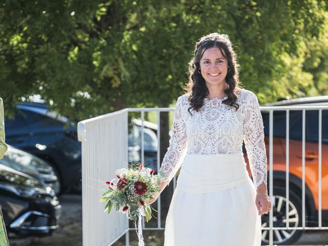
M 182 97 L 178 97 L 174 110 L 172 137 L 158 172 L 160 181 L 171 181 L 187 154 L 186 108 Z

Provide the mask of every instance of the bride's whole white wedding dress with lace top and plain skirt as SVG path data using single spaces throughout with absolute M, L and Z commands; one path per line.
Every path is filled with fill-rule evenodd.
M 170 181 L 181 167 L 165 225 L 165 246 L 259 246 L 256 188 L 267 185 L 263 122 L 257 97 L 242 89 L 239 109 L 204 98 L 199 112 L 178 97 L 172 137 L 161 168 Z M 253 176 L 242 154 L 245 143 Z M 182 165 L 182 166 L 181 166 Z

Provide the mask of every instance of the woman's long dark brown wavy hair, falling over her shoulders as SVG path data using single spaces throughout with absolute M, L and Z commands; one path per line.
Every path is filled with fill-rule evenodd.
M 209 48 L 217 47 L 220 49 L 224 58 L 228 60 L 228 73 L 226 76 L 226 83 L 228 88 L 224 90 L 227 95 L 227 99 L 223 100 L 222 103 L 234 107 L 238 110 L 239 105 L 236 103 L 237 95 L 235 94 L 235 89 L 238 88 L 239 83 L 239 64 L 237 62 L 237 55 L 233 50 L 230 38 L 227 34 L 211 33 L 200 38 L 200 40 L 195 45 L 194 57 L 189 61 L 189 82 L 183 88 L 187 93 L 190 94 L 189 101 L 191 107 L 197 112 L 203 106 L 204 97 L 209 95 L 209 90 L 205 84 L 205 79 L 198 72 L 200 69 L 199 61 Z M 191 114 L 191 113 L 190 113 Z

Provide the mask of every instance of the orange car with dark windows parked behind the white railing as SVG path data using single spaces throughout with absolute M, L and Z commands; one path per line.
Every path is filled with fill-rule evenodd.
M 268 106 L 327 106 L 328 96 L 283 100 Z M 289 226 L 302 227 L 302 110 L 289 111 Z M 264 140 L 268 156 L 269 112 L 262 111 Z M 319 110 L 305 111 L 305 226 L 319 227 Z M 244 155 L 247 156 L 246 150 Z M 247 160 L 247 158 L 246 158 Z M 252 173 L 247 161 L 250 176 Z M 268 187 L 269 191 L 269 187 Z M 321 166 L 322 227 L 328 226 L 328 110 L 322 110 Z M 286 227 L 286 111 L 273 112 L 273 227 Z M 262 215 L 262 228 L 269 227 L 269 213 Z M 275 230 L 274 244 L 293 244 L 303 230 Z M 269 231 L 262 230 L 262 242 Z

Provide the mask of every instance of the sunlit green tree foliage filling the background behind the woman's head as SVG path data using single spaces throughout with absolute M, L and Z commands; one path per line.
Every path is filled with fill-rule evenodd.
M 168 107 L 195 42 L 227 33 L 260 103 L 328 92 L 328 6 L 319 0 L 2 1 L 0 96 L 39 94 L 73 120 Z

